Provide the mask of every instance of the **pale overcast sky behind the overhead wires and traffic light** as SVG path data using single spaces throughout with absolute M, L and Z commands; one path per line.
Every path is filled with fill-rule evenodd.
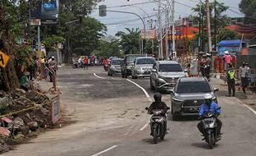
M 145 19 L 145 23 L 147 27 L 149 27 L 149 23 L 147 21 L 155 21 L 157 16 L 154 16 L 157 13 L 158 5 L 156 2 L 158 0 L 102 0 L 103 2 L 99 2 L 97 7 L 101 4 L 107 5 L 107 10 L 111 11 L 130 11 L 134 12 L 141 17 L 151 16 Z M 164 0 L 162 0 L 164 1 Z M 230 7 L 232 11 L 226 11 L 225 14 L 231 17 L 241 16 L 239 12 L 239 2 L 240 0 L 216 0 L 217 2 L 224 2 L 225 6 Z M 133 3 L 140 2 L 150 2 L 141 5 L 136 5 L 136 7 L 121 7 L 123 5 L 129 5 Z M 176 0 L 175 2 L 175 14 L 174 18 L 178 19 L 179 16 L 197 16 L 196 12 L 191 10 L 191 7 L 195 7 L 199 0 Z M 210 0 L 210 2 L 214 2 L 214 0 Z M 138 16 L 124 13 L 116 13 L 116 12 L 107 12 L 107 16 L 101 17 L 99 16 L 98 9 L 94 9 L 90 16 L 96 18 L 98 21 L 101 21 L 103 24 L 107 25 L 107 34 L 115 35 L 117 31 L 125 31 L 125 28 L 140 28 L 143 29 L 142 21 L 139 20 Z M 140 8 L 138 8 L 140 7 Z M 144 11 L 142 11 L 144 10 Z M 236 13 L 235 13 L 236 12 Z M 124 22 L 125 21 L 125 22 Z M 154 26 L 155 24 L 153 24 Z

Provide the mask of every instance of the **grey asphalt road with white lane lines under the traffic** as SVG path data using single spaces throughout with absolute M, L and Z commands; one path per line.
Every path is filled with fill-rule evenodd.
M 215 149 L 201 140 L 197 119 L 168 121 L 168 135 L 153 145 L 149 135 L 149 106 L 154 91 L 149 79 L 122 79 L 107 76 L 102 67 L 83 69 L 62 68 L 58 73 L 61 104 L 65 118 L 73 123 L 41 134 L 28 144 L 18 145 L 3 155 L 19 156 L 169 156 L 222 155 L 254 156 L 256 154 L 256 114 L 236 98 L 227 98 L 220 89 L 222 107 L 222 140 Z M 139 87 L 139 86 L 141 87 Z M 219 87 L 217 80 L 212 80 Z M 145 90 L 143 90 L 145 89 Z M 149 97 L 147 97 L 149 94 Z M 170 104 L 168 94 L 163 100 Z

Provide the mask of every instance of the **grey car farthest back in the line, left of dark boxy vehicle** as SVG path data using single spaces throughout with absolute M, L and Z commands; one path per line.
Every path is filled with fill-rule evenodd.
M 121 58 L 112 58 L 110 64 L 108 65 L 107 75 L 121 75 L 121 64 L 124 60 Z

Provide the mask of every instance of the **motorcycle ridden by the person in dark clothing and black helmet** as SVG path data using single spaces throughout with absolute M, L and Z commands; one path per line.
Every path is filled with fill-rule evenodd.
M 149 111 L 149 108 L 145 109 Z M 164 140 L 164 136 L 167 134 L 166 127 L 164 127 L 164 121 L 166 120 L 166 117 L 163 116 L 164 109 L 154 109 L 149 114 L 153 114 L 150 118 L 151 135 L 153 135 L 154 144 L 157 144 L 158 138 Z

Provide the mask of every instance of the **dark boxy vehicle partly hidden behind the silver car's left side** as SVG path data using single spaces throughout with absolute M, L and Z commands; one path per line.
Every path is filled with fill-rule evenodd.
M 131 76 L 132 65 L 135 62 L 136 57 L 143 57 L 140 54 L 127 54 L 124 63 L 121 65 L 121 77 Z

